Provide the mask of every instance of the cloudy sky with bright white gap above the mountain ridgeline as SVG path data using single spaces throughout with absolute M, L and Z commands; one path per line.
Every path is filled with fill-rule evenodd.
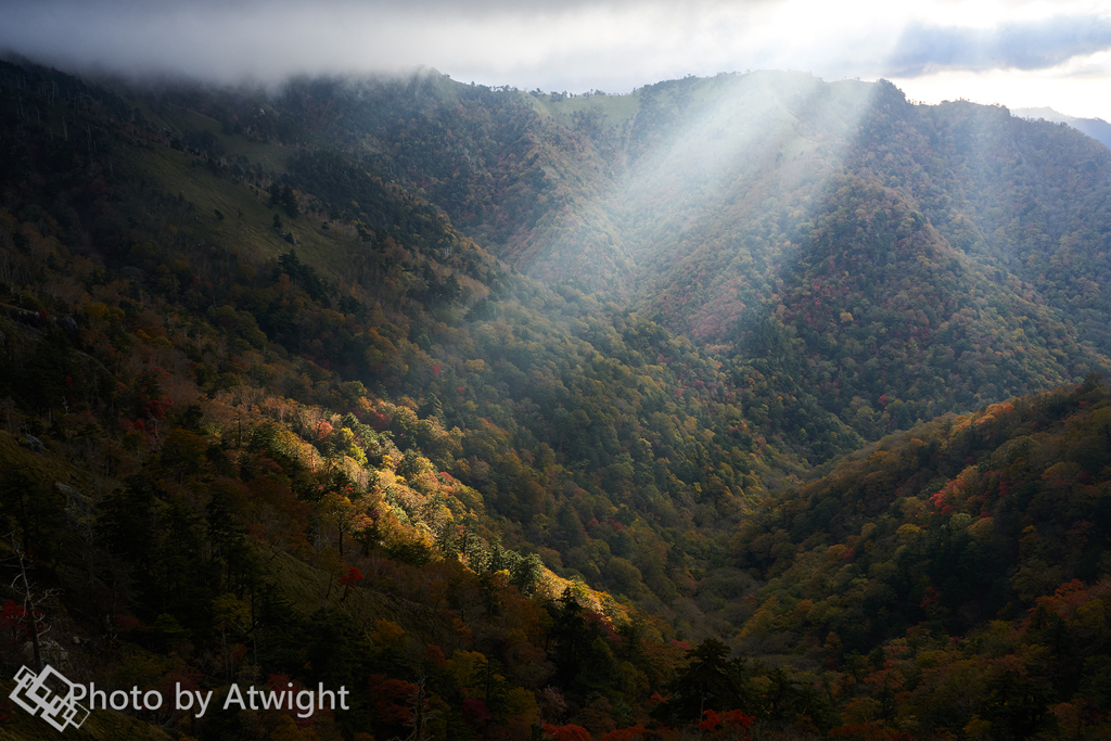
M 432 67 L 627 92 L 755 69 L 1111 121 L 1107 0 L 0 0 L 0 49 L 63 69 L 278 82 Z

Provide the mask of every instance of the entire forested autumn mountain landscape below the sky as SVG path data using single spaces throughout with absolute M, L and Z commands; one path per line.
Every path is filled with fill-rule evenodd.
M 74 737 L 1111 729 L 1111 151 L 885 82 L 0 62 L 0 687 Z M 0 704 L 0 738 L 53 738 Z

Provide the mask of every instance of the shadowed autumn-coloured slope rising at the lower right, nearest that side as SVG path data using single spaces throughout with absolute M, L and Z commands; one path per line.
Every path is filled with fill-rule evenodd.
M 741 528 L 738 642 L 821 677 L 848 738 L 1098 738 L 1109 518 L 1101 379 L 943 417 Z

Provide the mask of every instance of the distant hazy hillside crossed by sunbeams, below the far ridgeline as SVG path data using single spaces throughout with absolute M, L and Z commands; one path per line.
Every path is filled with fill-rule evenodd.
M 519 270 L 864 437 L 1108 368 L 1111 154 L 1072 130 L 783 72 L 587 97 L 314 81 L 278 106 Z

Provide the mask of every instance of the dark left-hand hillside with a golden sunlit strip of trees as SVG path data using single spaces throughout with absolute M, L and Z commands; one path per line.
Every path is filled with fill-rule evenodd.
M 721 623 L 694 579 L 801 470 L 721 363 L 297 127 L 0 73 L 8 675 L 356 688 L 306 738 L 649 722 Z

